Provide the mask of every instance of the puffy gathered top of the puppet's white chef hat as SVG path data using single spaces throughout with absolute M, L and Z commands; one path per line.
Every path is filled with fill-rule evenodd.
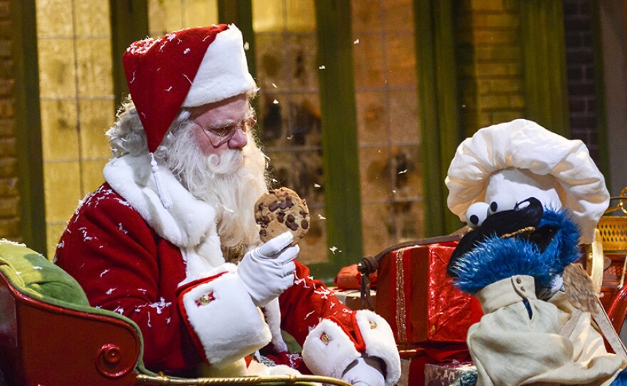
M 468 207 L 486 201 L 492 176 L 504 169 L 538 177 L 536 186 L 552 179 L 561 205 L 581 229 L 581 243 L 593 241 L 609 193 L 583 142 L 566 140 L 530 120 L 485 127 L 457 147 L 446 177 L 449 209 L 465 221 Z

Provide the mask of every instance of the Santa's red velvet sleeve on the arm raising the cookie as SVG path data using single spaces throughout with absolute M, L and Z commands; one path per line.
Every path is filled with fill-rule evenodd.
M 177 308 L 175 290 L 185 278 L 180 251 L 108 184 L 77 209 L 56 262 L 81 283 L 92 306 L 138 324 L 148 368 L 183 370 L 202 362 Z

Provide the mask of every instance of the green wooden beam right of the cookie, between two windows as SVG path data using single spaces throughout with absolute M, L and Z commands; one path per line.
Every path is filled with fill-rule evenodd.
M 363 257 L 351 4 L 316 1 L 327 244 L 337 272 Z M 377 225 L 378 226 L 378 225 Z

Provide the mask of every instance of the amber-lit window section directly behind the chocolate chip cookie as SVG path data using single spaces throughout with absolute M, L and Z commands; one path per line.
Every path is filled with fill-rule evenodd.
M 328 260 L 314 1 L 254 0 L 261 142 L 275 187 L 294 189 L 311 212 L 304 263 Z

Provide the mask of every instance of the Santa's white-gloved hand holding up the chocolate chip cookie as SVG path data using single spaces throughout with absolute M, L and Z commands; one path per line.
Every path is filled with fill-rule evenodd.
M 293 240 L 286 231 L 248 252 L 239 263 L 237 275 L 255 306 L 265 306 L 294 284 L 293 260 L 299 255 L 299 246 L 289 246 Z

